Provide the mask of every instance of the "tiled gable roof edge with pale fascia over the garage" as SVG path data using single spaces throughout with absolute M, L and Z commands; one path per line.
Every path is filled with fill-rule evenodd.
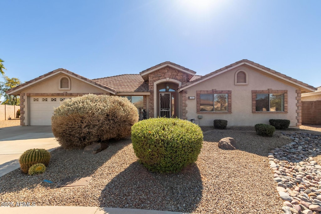
M 98 87 L 101 87 L 101 88 L 107 89 L 107 90 L 109 90 L 109 91 L 111 91 L 111 92 L 113 92 L 113 93 L 116 93 L 115 90 L 110 89 L 110 88 L 108 88 L 108 87 L 105 86 L 105 85 L 101 85 L 101 84 L 98 83 L 98 82 L 94 82 L 94 81 L 92 81 L 92 80 L 90 80 L 90 79 L 88 79 L 88 78 L 86 78 L 86 77 L 83 77 L 83 76 L 78 75 L 78 74 L 76 74 L 76 73 L 74 73 L 74 72 L 68 71 L 67 69 L 64 69 L 64 68 L 58 68 L 58 69 L 53 70 L 53 71 L 51 71 L 51 72 L 45 73 L 45 74 L 43 74 L 43 75 L 41 75 L 41 76 L 39 76 L 39 77 L 36 77 L 35 79 L 29 80 L 29 81 L 27 81 L 27 82 L 24 82 L 24 83 L 22 83 L 22 84 L 20 84 L 20 85 L 18 85 L 18 86 L 16 86 L 16 87 L 10 89 L 10 90 L 7 90 L 6 93 L 10 93 L 10 92 L 16 91 L 16 90 L 22 88 L 23 86 L 29 85 L 29 84 L 32 83 L 32 82 L 35 82 L 35 81 L 40 80 L 40 79 L 42 79 L 42 78 L 47 78 L 47 77 L 50 76 L 51 74 L 59 73 L 59 72 L 68 73 L 70 76 L 74 76 L 75 78 L 82 79 L 82 80 L 84 80 L 84 81 L 87 81 L 87 82 L 90 82 L 90 83 L 92 83 L 92 84 L 95 84 L 95 85 L 97 85 Z

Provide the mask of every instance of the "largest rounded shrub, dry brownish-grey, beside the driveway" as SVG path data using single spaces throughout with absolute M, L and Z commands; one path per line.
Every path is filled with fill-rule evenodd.
M 65 149 L 130 135 L 137 108 L 127 98 L 88 94 L 64 100 L 54 110 L 51 127 Z

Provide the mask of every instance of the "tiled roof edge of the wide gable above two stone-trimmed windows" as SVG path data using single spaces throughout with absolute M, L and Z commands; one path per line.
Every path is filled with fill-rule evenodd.
M 185 89 L 187 89 L 187 88 L 189 88 L 189 87 L 191 87 L 191 86 L 193 86 L 195 84 L 201 83 L 202 81 L 208 80 L 208 79 L 210 79 L 210 78 L 212 78 L 214 76 L 217 76 L 217 75 L 219 75 L 221 73 L 229 71 L 229 70 L 231 70 L 231 69 L 233 69 L 235 67 L 238 67 L 238 66 L 240 66 L 242 64 L 249 65 L 249 66 L 254 67 L 254 68 L 258 69 L 258 70 L 261 70 L 261 71 L 263 71 L 265 73 L 273 75 L 276 78 L 282 79 L 284 81 L 288 81 L 288 82 L 290 82 L 292 84 L 295 84 L 295 85 L 299 86 L 299 88 L 307 90 L 307 92 L 311 92 L 311 91 L 317 90 L 313 86 L 308 85 L 308 84 L 306 84 L 304 82 L 301 82 L 299 80 L 293 79 L 292 77 L 289 77 L 289 76 L 287 76 L 285 74 L 276 72 L 276 71 L 274 71 L 274 70 L 272 70 L 270 68 L 267 68 L 267 67 L 265 67 L 263 65 L 257 64 L 257 63 L 255 63 L 253 61 L 250 61 L 250 60 L 247 60 L 247 59 L 242 59 L 242 60 L 240 60 L 238 62 L 232 63 L 232 64 L 227 65 L 227 66 L 225 66 L 223 68 L 220 68 L 220 69 L 218 69 L 218 70 L 216 70 L 214 72 L 206 74 L 206 75 L 204 75 L 204 76 L 202 76 L 202 77 L 200 77 L 200 78 L 198 78 L 198 79 L 196 79 L 194 81 L 187 82 L 185 85 L 182 85 L 178 89 L 178 92 L 180 92 L 182 90 L 185 90 Z

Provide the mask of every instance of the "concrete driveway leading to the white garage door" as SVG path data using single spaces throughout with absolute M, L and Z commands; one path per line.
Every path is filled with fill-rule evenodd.
M 60 146 L 51 126 L 0 128 L 0 177 L 19 168 L 21 154 L 29 149 L 54 150 Z

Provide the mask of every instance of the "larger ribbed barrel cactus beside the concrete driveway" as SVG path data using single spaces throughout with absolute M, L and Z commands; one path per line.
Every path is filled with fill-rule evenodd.
M 21 171 L 28 173 L 29 168 L 34 164 L 42 163 L 46 167 L 49 165 L 50 152 L 45 149 L 30 149 L 20 156 L 19 163 Z

